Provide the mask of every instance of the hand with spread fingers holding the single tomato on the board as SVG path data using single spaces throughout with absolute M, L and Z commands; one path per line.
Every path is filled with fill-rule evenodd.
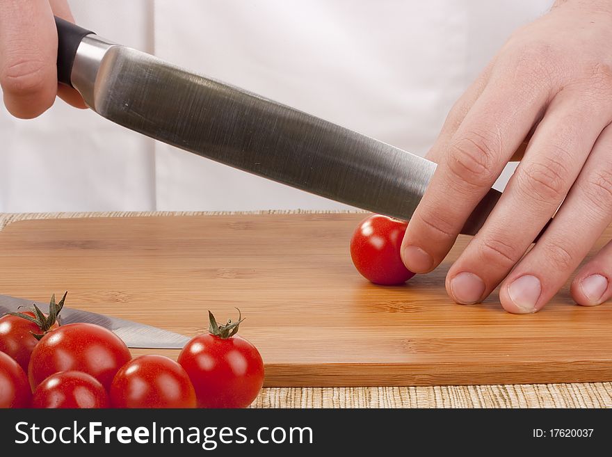
M 501 283 L 501 305 L 513 313 L 536 312 L 556 294 L 612 221 L 611 43 L 610 0 L 557 2 L 510 37 L 453 106 L 428 154 L 437 170 L 402 245 L 411 271 L 442 262 L 528 141 L 497 206 L 449 270 L 446 289 L 458 303 L 478 303 Z M 609 244 L 577 273 L 572 296 L 580 305 L 602 303 L 611 279 Z

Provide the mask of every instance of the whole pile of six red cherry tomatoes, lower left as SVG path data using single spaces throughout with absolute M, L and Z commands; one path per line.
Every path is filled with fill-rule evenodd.
M 194 337 L 178 362 L 131 358 L 122 339 L 90 323 L 58 326 L 49 314 L 0 318 L 0 408 L 245 408 L 264 382 L 257 348 L 236 335 L 242 319 Z

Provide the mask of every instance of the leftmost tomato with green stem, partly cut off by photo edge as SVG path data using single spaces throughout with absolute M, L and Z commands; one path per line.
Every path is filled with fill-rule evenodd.
M 31 311 L 26 311 L 23 314 L 35 318 Z M 54 323 L 51 328 L 57 327 L 58 324 Z M 10 355 L 17 360 L 24 371 L 28 371 L 30 355 L 34 346 L 38 344 L 38 339 L 35 339 L 32 333 L 39 335 L 41 332 L 40 326 L 32 321 L 6 314 L 6 316 L 0 318 L 0 351 Z

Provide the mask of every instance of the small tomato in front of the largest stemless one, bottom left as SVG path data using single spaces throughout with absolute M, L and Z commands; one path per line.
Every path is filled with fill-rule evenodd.
M 52 374 L 36 387 L 32 408 L 108 408 L 108 394 L 99 381 L 81 371 Z

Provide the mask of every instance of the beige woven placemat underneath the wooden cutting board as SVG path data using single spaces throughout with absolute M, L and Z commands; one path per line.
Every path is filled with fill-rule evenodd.
M 291 214 L 313 211 L 257 211 Z M 316 211 L 319 213 L 335 211 Z M 0 214 L 0 230 L 29 219 L 202 216 L 232 211 Z M 450 385 L 434 387 L 270 387 L 254 408 L 612 408 L 612 383 Z

